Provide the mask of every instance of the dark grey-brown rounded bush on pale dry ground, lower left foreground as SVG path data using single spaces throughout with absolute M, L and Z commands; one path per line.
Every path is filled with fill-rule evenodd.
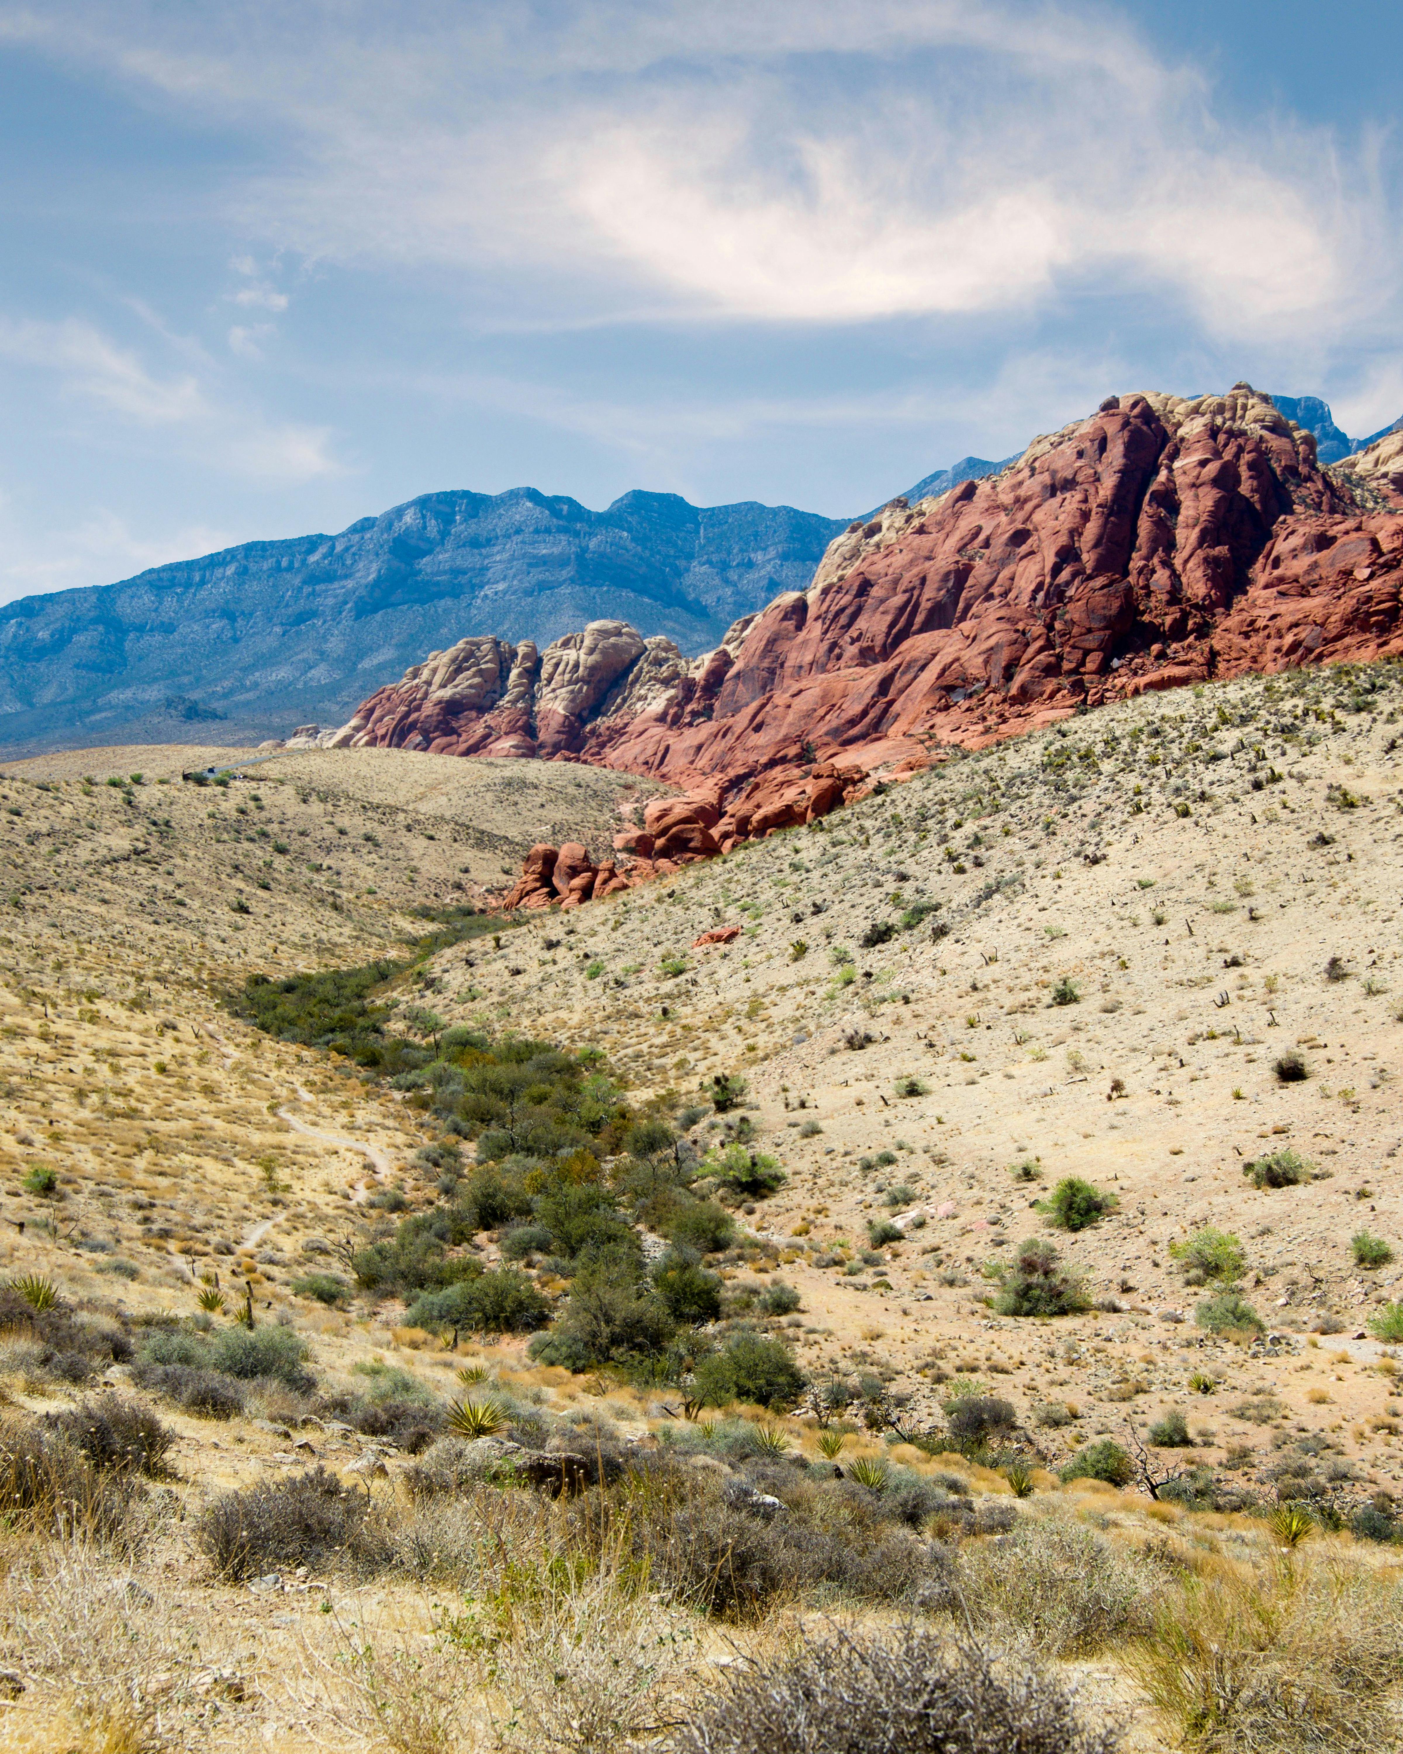
M 223 1579 L 242 1582 L 354 1556 L 365 1510 L 361 1493 L 316 1466 L 286 1480 L 221 1493 L 200 1514 L 195 1542 Z

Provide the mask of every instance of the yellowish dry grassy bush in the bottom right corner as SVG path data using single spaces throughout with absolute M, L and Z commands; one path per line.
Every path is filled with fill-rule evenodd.
M 1403 1593 L 1331 1556 L 1186 1577 L 1129 1647 L 1166 1724 L 1201 1754 L 1371 1754 L 1394 1735 Z

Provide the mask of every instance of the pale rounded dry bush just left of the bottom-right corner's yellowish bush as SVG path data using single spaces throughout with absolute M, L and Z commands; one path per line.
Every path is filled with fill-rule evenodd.
M 1038 1656 L 1093 1656 L 1143 1636 L 1157 1579 L 1080 1522 L 1021 1517 L 996 1547 L 959 1558 L 961 1600 L 980 1633 L 1015 1628 Z

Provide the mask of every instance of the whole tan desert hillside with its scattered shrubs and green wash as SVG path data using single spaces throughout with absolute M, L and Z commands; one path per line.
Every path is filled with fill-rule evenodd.
M 0 1747 L 754 1747 L 737 1651 L 893 1621 L 1033 1663 L 1029 1747 L 1391 1745 L 1399 709 L 1149 695 L 514 917 L 649 791 L 11 765 Z M 321 1037 L 240 998 L 317 970 Z M 1029 1238 L 1066 1314 L 1000 1312 Z M 580 1352 L 591 1249 L 696 1310 Z

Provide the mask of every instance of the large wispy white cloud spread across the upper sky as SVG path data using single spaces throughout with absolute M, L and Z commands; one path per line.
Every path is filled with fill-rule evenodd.
M 291 135 L 249 226 L 344 260 L 563 275 L 561 316 L 649 288 L 673 314 L 830 324 L 1135 289 L 1256 342 L 1396 310 L 1368 165 L 1282 123 L 1235 130 L 1103 7 L 65 11 L 81 53 Z

